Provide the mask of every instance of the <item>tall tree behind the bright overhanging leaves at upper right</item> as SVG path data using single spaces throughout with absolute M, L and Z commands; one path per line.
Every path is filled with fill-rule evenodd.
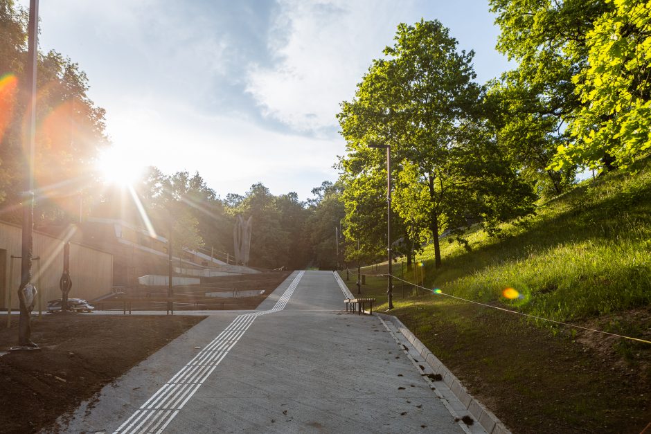
M 488 114 L 503 152 L 543 194 L 558 195 L 573 181 L 575 165 L 549 165 L 573 140 L 567 125 L 582 101 L 572 77 L 587 63 L 587 33 L 608 9 L 604 0 L 490 0 L 501 28 L 497 49 L 518 66 L 490 84 Z

